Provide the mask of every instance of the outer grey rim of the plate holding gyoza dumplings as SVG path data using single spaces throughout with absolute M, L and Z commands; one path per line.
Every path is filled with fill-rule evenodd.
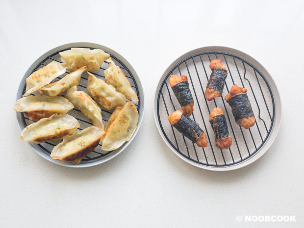
M 90 43 L 90 42 L 74 42 L 74 43 L 68 43 L 68 44 L 64 44 L 64 45 L 60 45 L 57 46 L 53 49 L 51 49 L 50 51 L 45 52 L 44 54 L 42 54 L 40 57 L 38 57 L 31 65 L 30 67 L 26 70 L 24 76 L 22 77 L 18 90 L 17 90 L 17 95 L 16 95 L 16 101 L 20 99 L 20 97 L 22 96 L 22 92 L 23 92 L 23 88 L 25 85 L 25 80 L 27 75 L 32 72 L 32 70 L 35 68 L 35 66 L 37 66 L 38 63 L 40 63 L 42 60 L 44 60 L 47 56 L 49 56 L 50 54 L 56 52 L 56 51 L 61 51 L 63 49 L 68 49 L 68 48 L 73 48 L 73 47 L 88 47 L 88 48 L 94 48 L 94 49 L 101 49 L 107 53 L 111 53 L 113 54 L 115 57 L 117 57 L 120 61 L 122 61 L 127 68 L 129 69 L 129 71 L 132 73 L 136 84 L 137 84 L 137 88 L 138 88 L 138 92 L 139 92 L 139 96 L 140 96 L 140 110 L 139 110 L 139 118 L 138 118 L 138 122 L 137 122 L 137 127 L 136 130 L 134 132 L 134 134 L 132 135 L 131 139 L 124 143 L 124 145 L 122 147 L 120 147 L 119 149 L 115 150 L 115 152 L 111 152 L 108 155 L 105 155 L 104 157 L 98 158 L 96 160 L 93 161 L 87 161 L 85 163 L 80 163 L 78 165 L 74 165 L 71 162 L 66 162 L 66 161 L 60 161 L 58 159 L 53 159 L 51 158 L 51 156 L 49 154 L 47 154 L 46 152 L 42 151 L 42 149 L 35 143 L 30 143 L 27 142 L 29 144 L 29 146 L 35 151 L 37 152 L 40 156 L 44 157 L 45 159 L 51 161 L 52 163 L 55 163 L 57 165 L 61 165 L 61 166 L 65 166 L 65 167 L 73 167 L 73 168 L 84 168 L 84 167 L 92 167 L 92 166 L 96 166 L 99 164 L 102 164 L 106 161 L 111 160 L 112 158 L 116 157 L 118 154 L 120 154 L 121 152 L 123 152 L 127 146 L 133 141 L 133 139 L 136 137 L 139 128 L 141 127 L 141 124 L 143 122 L 143 118 L 144 118 L 144 112 L 145 112 L 145 95 L 144 95 L 144 91 L 143 91 L 143 87 L 140 81 L 139 76 L 137 75 L 136 71 L 134 70 L 134 68 L 132 67 L 132 65 L 127 61 L 126 58 L 124 58 L 121 54 L 119 54 L 118 52 L 114 51 L 113 49 L 110 49 L 106 46 L 100 45 L 100 44 L 96 44 L 96 43 Z M 17 123 L 18 126 L 20 128 L 20 130 L 22 131 L 24 129 L 23 127 L 23 122 L 22 122 L 22 116 L 20 112 L 16 112 L 16 117 L 17 117 Z

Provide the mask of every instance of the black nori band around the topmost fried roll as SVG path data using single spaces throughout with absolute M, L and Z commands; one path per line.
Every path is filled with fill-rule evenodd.
M 227 77 L 227 70 L 221 68 L 212 69 L 212 73 L 207 83 L 207 89 L 214 89 L 223 93 L 225 80 Z

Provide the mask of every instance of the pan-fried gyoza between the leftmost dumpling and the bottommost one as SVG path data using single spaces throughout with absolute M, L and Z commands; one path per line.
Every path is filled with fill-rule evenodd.
M 26 126 L 21 133 L 21 139 L 37 144 L 49 140 L 56 141 L 65 135 L 71 135 L 77 127 L 80 127 L 80 124 L 73 116 L 55 113 L 49 118 Z

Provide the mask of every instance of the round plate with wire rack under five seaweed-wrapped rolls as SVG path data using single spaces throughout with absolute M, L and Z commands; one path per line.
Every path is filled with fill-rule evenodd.
M 209 63 L 221 59 L 228 70 L 223 96 L 206 101 L 204 90 L 211 74 Z M 190 116 L 205 131 L 206 148 L 197 147 L 168 121 L 168 115 L 180 109 L 170 87 L 169 77 L 188 76 L 194 99 Z M 256 123 L 245 129 L 234 122 L 231 108 L 224 100 L 230 88 L 245 87 L 251 101 Z M 215 147 L 215 136 L 209 123 L 209 114 L 220 107 L 226 116 L 232 146 L 220 150 Z M 163 140 L 180 158 L 197 167 L 228 171 L 244 167 L 261 157 L 274 142 L 280 126 L 281 103 L 275 82 L 265 68 L 248 54 L 226 47 L 205 47 L 190 51 L 175 60 L 160 78 L 154 100 L 154 118 Z

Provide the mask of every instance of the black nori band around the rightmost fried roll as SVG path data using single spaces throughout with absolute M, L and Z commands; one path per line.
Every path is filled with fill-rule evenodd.
M 247 94 L 242 93 L 235 95 L 227 102 L 231 107 L 231 111 L 235 121 L 254 116 L 253 109 L 251 107 Z

